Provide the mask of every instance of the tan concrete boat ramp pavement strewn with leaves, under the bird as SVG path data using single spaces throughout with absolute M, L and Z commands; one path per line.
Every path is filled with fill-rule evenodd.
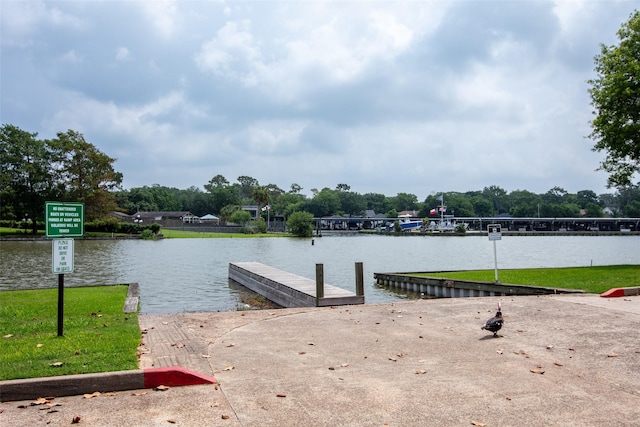
M 498 301 L 493 338 L 480 326 Z M 0 425 L 640 426 L 640 296 L 141 315 L 140 326 L 142 369 L 179 365 L 218 384 L 4 403 Z

